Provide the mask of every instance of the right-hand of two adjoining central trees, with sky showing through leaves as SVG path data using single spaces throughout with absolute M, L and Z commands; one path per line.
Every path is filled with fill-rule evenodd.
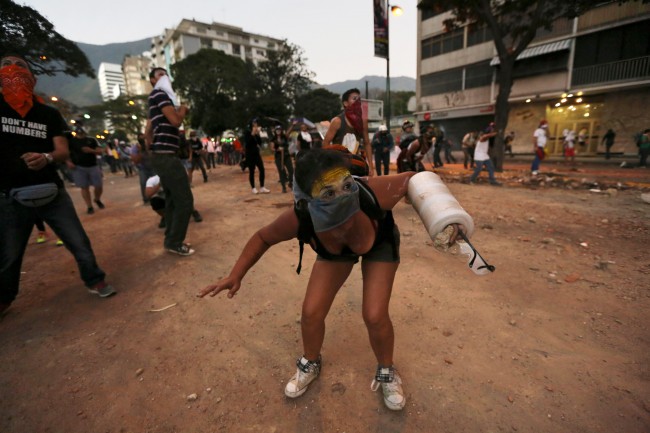
M 301 48 L 282 41 L 278 50 L 268 50 L 267 60 L 256 68 L 260 94 L 257 115 L 285 120 L 292 113 L 296 98 L 309 92 L 313 73 L 305 64 Z

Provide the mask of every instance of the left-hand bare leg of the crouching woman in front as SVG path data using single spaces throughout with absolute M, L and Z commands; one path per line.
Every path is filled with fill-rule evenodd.
M 325 318 L 334 297 L 350 275 L 353 263 L 317 260 L 302 304 L 302 344 L 305 358 L 315 361 L 325 338 Z

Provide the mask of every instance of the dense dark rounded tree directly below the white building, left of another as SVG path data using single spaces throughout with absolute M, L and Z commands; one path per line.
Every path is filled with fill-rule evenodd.
M 247 122 L 243 107 L 258 86 L 254 65 L 223 51 L 202 49 L 172 65 L 174 88 L 191 106 L 190 126 L 210 135 Z

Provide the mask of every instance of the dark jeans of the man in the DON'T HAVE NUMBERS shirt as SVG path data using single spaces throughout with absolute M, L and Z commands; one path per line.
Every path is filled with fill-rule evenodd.
M 0 192 L 0 302 L 10 304 L 18 295 L 20 268 L 36 220 L 45 221 L 72 253 L 86 287 L 104 281 L 106 274 L 97 265 L 90 239 L 79 221 L 67 191 L 50 203 L 26 207 Z

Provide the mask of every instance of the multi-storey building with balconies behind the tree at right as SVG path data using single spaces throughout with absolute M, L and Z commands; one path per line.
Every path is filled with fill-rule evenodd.
M 499 58 L 487 27 L 445 31 L 449 12 L 420 11 L 416 98 L 420 124 L 435 123 L 455 147 L 467 131 L 494 118 Z M 515 152 L 530 152 L 540 119 L 549 122 L 550 150 L 561 154 L 564 130 L 586 137 L 583 154 L 636 153 L 633 134 L 650 128 L 650 5 L 603 2 L 575 19 L 540 29 L 517 58 L 507 132 Z

